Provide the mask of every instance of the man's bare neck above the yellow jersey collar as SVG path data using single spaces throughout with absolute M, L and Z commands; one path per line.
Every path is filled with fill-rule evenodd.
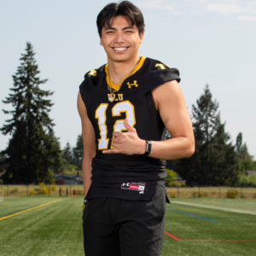
M 110 76 L 113 84 L 119 84 L 119 82 L 128 76 L 132 69 L 139 61 L 139 57 L 136 56 L 129 61 L 112 61 L 108 59 L 108 75 Z

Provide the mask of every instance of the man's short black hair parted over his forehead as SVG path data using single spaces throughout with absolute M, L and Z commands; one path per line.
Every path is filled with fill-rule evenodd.
M 140 9 L 129 1 L 120 3 L 108 3 L 97 16 L 97 27 L 100 37 L 102 37 L 102 27 L 109 26 L 110 20 L 118 15 L 128 16 L 131 20 L 131 26 L 137 26 L 139 34 L 144 32 L 144 18 Z

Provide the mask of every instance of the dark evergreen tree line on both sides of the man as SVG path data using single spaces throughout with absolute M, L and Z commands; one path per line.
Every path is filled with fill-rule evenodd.
M 3 100 L 13 110 L 0 131 L 10 134 L 7 148 L 0 152 L 0 172 L 4 183 L 50 183 L 53 173 L 77 172 L 82 169 L 83 138 L 79 135 L 75 147 L 69 143 L 61 150 L 55 137 L 54 122 L 49 118 L 54 92 L 42 90 L 47 79 L 40 79 L 32 44 L 26 43 L 20 66 L 13 75 L 14 87 Z M 192 106 L 195 133 L 195 154 L 189 159 L 167 161 L 167 168 L 178 172 L 188 185 L 238 184 L 247 170 L 256 170 L 242 134 L 236 144 L 221 122 L 218 102 L 212 99 L 207 85 L 204 93 Z M 172 139 L 166 134 L 166 139 Z M 256 183 L 255 183 L 256 184 Z

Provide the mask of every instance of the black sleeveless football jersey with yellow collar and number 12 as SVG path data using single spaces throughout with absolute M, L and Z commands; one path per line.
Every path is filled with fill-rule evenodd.
M 112 148 L 113 131 L 126 131 L 126 117 L 141 139 L 162 140 L 165 125 L 151 90 L 175 79 L 180 81 L 176 68 L 141 57 L 137 68 L 123 79 L 120 89 L 112 96 L 107 84 L 108 64 L 85 74 L 79 90 L 96 135 L 96 156 L 92 160 L 92 183 L 87 199 L 151 200 L 156 183 L 166 177 L 166 161 L 142 154 L 102 154 L 102 150 Z M 113 89 L 115 86 L 112 84 Z

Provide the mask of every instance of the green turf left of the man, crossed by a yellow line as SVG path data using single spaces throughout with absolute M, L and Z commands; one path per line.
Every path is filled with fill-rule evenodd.
M 0 202 L 0 216 L 55 201 L 60 197 L 17 197 Z M 84 255 L 82 244 L 82 202 L 61 201 L 0 220 L 1 256 Z

